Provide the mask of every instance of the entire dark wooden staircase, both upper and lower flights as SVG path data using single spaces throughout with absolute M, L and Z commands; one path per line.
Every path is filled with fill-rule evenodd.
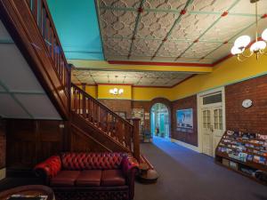
M 0 0 L 0 17 L 62 119 L 68 121 L 69 151 L 140 155 L 139 119 L 125 120 L 71 84 L 70 68 L 46 0 Z

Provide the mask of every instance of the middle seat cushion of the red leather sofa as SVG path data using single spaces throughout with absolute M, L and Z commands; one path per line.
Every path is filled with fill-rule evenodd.
M 76 180 L 77 186 L 100 186 L 101 170 L 87 170 L 80 172 Z

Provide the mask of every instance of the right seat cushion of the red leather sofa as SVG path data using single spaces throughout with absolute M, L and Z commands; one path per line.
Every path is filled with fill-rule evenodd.
M 101 186 L 123 186 L 125 177 L 121 170 L 104 170 L 101 176 Z

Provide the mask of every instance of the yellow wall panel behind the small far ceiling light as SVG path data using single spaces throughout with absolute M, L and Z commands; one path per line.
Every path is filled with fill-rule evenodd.
M 110 89 L 113 88 L 124 89 L 121 95 L 113 95 L 109 93 Z M 117 100 L 132 100 L 132 86 L 131 85 L 109 85 L 99 84 L 98 85 L 98 99 L 117 99 Z

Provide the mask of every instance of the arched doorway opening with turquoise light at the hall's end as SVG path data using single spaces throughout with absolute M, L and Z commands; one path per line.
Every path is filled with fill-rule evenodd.
M 150 109 L 150 128 L 153 136 L 170 137 L 169 110 L 163 103 L 155 103 Z

